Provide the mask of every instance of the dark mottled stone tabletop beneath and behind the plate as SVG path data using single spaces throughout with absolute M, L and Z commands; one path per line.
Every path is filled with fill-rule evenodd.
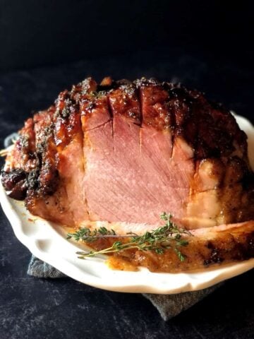
M 182 52 L 184 53 L 184 52 Z M 237 61 L 138 52 L 0 75 L 0 143 L 63 88 L 94 76 L 174 79 L 253 119 L 253 68 Z M 0 215 L 0 339 L 254 338 L 253 270 L 233 278 L 195 307 L 164 322 L 141 295 L 107 292 L 74 280 L 26 274 L 30 253 Z

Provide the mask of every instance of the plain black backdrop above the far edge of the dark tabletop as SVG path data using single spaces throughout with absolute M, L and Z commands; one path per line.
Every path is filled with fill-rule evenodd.
M 164 47 L 251 63 L 252 6 L 248 0 L 0 0 L 0 69 Z

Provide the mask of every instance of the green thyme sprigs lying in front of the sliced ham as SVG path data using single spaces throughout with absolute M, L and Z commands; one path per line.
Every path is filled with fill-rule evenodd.
M 145 234 L 139 236 L 135 233 L 127 233 L 124 236 L 116 234 L 114 230 L 107 230 L 106 227 L 99 227 L 97 230 L 90 230 L 87 227 L 80 228 L 80 230 L 74 233 L 68 233 L 67 239 L 73 238 L 75 241 L 84 241 L 87 243 L 95 242 L 97 239 L 105 238 L 129 238 L 128 242 L 122 242 L 117 240 L 112 246 L 100 251 L 78 251 L 78 258 L 86 258 L 87 256 L 96 256 L 97 254 L 111 254 L 127 249 L 138 249 L 140 251 L 155 251 L 157 254 L 163 254 L 165 249 L 172 248 L 176 252 L 180 261 L 184 261 L 185 256 L 181 253 L 179 247 L 187 246 L 188 241 L 182 239 L 182 234 L 191 235 L 190 232 L 177 225 L 171 220 L 172 215 L 162 213 L 160 215 L 162 220 L 165 220 L 165 225 L 152 230 L 151 232 L 145 232 Z

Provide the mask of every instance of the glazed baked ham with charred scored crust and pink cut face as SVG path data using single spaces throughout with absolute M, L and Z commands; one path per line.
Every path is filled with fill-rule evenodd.
M 33 215 L 123 235 L 154 230 L 170 212 L 194 235 L 186 261 L 170 250 L 127 256 L 150 270 L 254 256 L 246 134 L 202 93 L 154 79 L 87 78 L 25 121 L 19 135 L 1 180 Z

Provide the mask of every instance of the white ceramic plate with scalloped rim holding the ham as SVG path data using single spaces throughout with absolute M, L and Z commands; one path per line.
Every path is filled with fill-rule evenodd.
M 254 169 L 254 128 L 248 120 L 237 117 L 241 129 L 248 134 L 249 157 Z M 146 268 L 137 272 L 111 270 L 104 257 L 77 258 L 78 244 L 66 240 L 62 227 L 41 218 L 35 218 L 23 202 L 8 198 L 0 187 L 1 206 L 11 222 L 16 237 L 37 258 L 51 264 L 69 277 L 104 290 L 119 292 L 146 292 L 174 294 L 201 290 L 246 272 L 254 267 L 254 258 L 216 268 L 205 268 L 188 273 L 151 273 Z

